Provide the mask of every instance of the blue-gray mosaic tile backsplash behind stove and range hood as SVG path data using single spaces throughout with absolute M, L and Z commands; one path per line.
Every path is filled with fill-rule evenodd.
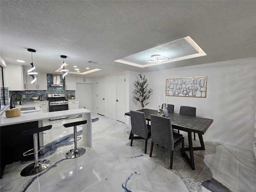
M 65 81 L 63 78 L 60 78 L 60 84 L 63 85 L 63 87 L 53 87 L 52 85 L 52 74 L 47 74 L 47 90 L 40 90 L 40 91 L 9 91 L 9 96 L 12 96 L 13 94 L 19 94 L 20 96 L 25 95 L 26 98 L 23 98 L 23 101 L 31 101 L 32 96 L 44 96 L 44 100 L 47 100 L 47 94 L 65 94 L 66 98 L 68 98 L 68 94 L 74 95 L 76 91 L 75 90 L 65 90 Z

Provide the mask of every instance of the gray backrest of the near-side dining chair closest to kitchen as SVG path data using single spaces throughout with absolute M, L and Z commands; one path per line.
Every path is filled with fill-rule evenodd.
M 148 128 L 146 117 L 143 112 L 130 110 L 132 133 L 144 139 L 148 138 Z

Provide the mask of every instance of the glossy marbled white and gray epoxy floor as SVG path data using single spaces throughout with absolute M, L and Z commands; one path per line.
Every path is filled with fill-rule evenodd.
M 205 141 L 208 146 L 214 146 L 214 150 L 206 148 L 202 153 L 195 154 L 202 158 L 202 163 L 199 164 L 200 160 L 195 157 L 198 159 L 198 164 L 195 161 L 196 166 L 203 164 L 202 171 L 197 168 L 195 171 L 191 170 L 178 153 L 174 154 L 174 167 L 170 170 L 168 159 L 162 160 L 159 157 L 164 156 L 165 151 L 155 150 L 152 158 L 149 157 L 150 141 L 147 154 L 144 154 L 144 141 L 138 140 L 130 146 L 129 125 L 95 113 L 92 113 L 92 118 L 99 118 L 92 123 L 92 147 L 79 140 L 78 147 L 86 148 L 86 153 L 75 159 L 65 158 L 65 153 L 74 148 L 74 144 L 60 142 L 60 138 L 73 134 L 73 128 L 64 128 L 63 124 L 81 119 L 44 121 L 44 126 L 53 125 L 44 134 L 44 144 L 47 149 L 49 146 L 51 148 L 39 159 L 50 160 L 51 166 L 37 176 L 22 177 L 21 170 L 33 160 L 9 164 L 0 180 L 0 191 L 208 192 L 221 191 L 220 185 L 233 192 L 256 191 L 256 164 L 251 151 Z M 78 126 L 77 131 L 81 129 Z M 220 185 L 201 185 L 204 180 L 211 178 Z

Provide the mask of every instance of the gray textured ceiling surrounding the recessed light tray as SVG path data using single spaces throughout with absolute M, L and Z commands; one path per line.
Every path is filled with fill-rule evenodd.
M 37 72 L 148 72 L 256 56 L 256 1 L 0 1 L 0 55 Z M 114 60 L 190 36 L 206 56 L 139 68 Z M 92 64 L 86 61 L 102 62 Z

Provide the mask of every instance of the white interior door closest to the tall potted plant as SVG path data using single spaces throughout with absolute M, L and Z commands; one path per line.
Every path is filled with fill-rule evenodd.
M 116 76 L 116 120 L 125 123 L 125 75 Z

